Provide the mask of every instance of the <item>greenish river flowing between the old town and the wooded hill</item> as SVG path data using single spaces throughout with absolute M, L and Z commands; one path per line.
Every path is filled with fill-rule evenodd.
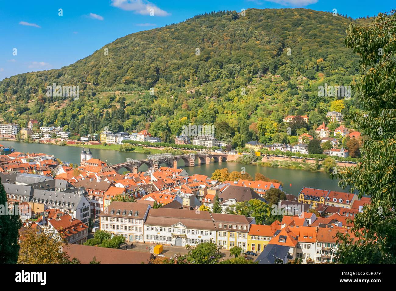
M 0 144 L 6 147 L 13 147 L 19 152 L 42 152 L 44 154 L 53 155 L 61 161 L 71 162 L 73 164 L 80 164 L 80 153 L 82 148 L 77 146 L 58 146 L 58 145 L 46 145 L 46 144 L 36 144 L 36 143 L 19 143 L 15 141 L 0 141 Z M 107 162 L 109 165 L 125 162 L 126 158 L 133 158 L 136 160 L 141 160 L 146 158 L 146 154 L 137 152 L 120 152 L 117 150 L 100 150 L 91 149 L 93 158 L 98 158 L 102 161 Z M 222 169 L 227 167 L 228 171 L 241 171 L 242 167 L 246 168 L 246 173 L 249 173 L 254 177 L 256 172 L 260 172 L 270 179 L 277 179 L 283 182 L 283 190 L 288 194 L 297 195 L 300 190 L 306 186 L 311 188 L 319 188 L 326 190 L 342 190 L 338 186 L 337 180 L 332 180 L 329 175 L 324 172 L 310 172 L 294 169 L 284 169 L 284 168 L 272 168 L 272 167 L 262 167 L 259 165 L 242 165 L 235 162 L 211 162 L 211 164 L 196 165 L 195 167 L 185 167 L 184 162 L 181 160 L 177 165 L 179 168 L 183 167 L 190 175 L 201 174 L 208 175 L 209 178 L 211 174 L 216 169 Z M 139 170 L 147 170 L 146 165 L 142 165 Z

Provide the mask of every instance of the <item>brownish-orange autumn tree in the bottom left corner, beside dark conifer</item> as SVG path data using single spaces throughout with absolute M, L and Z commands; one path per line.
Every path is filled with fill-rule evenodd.
M 69 261 L 69 256 L 63 252 L 63 242 L 45 232 L 37 233 L 37 229 L 28 228 L 20 240 L 18 264 L 63 264 Z

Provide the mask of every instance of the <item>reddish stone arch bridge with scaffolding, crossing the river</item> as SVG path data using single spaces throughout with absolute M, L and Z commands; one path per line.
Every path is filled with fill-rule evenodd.
M 143 164 L 146 164 L 149 168 L 153 167 L 154 169 L 158 169 L 160 165 L 166 164 L 168 167 L 177 168 L 177 162 L 179 160 L 184 161 L 184 165 L 186 167 L 194 167 L 195 161 L 198 160 L 198 164 L 210 164 L 211 159 L 215 162 L 223 162 L 227 161 L 227 154 L 206 154 L 206 153 L 196 153 L 196 154 L 183 154 L 179 156 L 173 156 L 172 154 L 152 154 L 147 156 L 145 160 L 134 160 L 134 159 L 126 159 L 126 162 L 111 165 L 114 170 L 118 171 L 121 168 L 126 168 L 131 173 L 138 173 L 139 167 Z

